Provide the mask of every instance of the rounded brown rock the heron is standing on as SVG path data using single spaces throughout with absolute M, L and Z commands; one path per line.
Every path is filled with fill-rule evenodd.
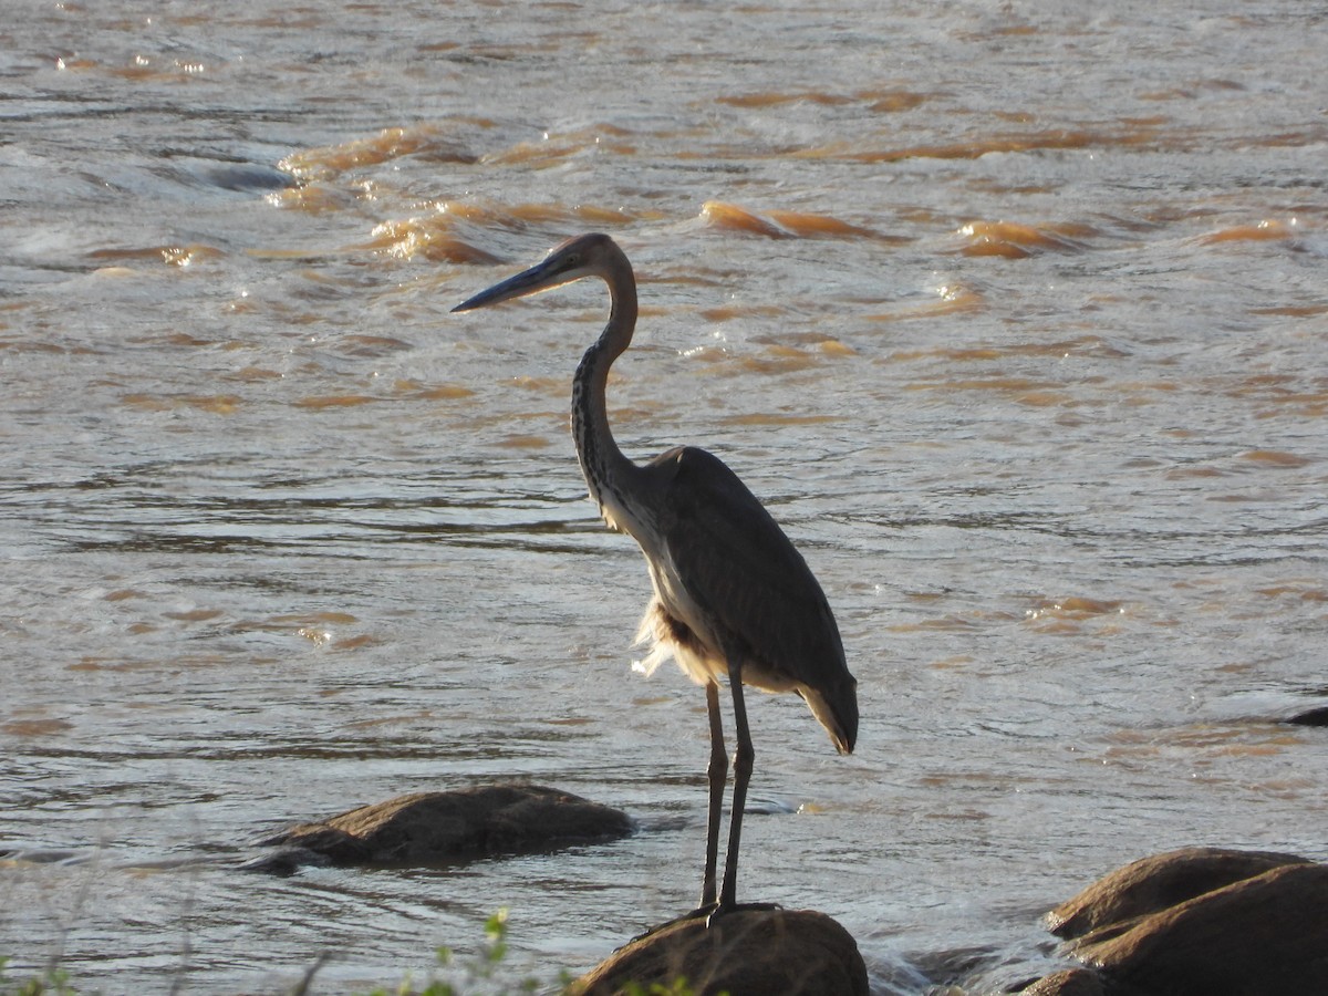
M 651 992 L 685 979 L 697 996 L 866 996 L 853 936 L 813 910 L 738 908 L 675 920 L 619 948 L 568 987 L 572 996 Z M 635 985 L 635 988 L 633 988 Z

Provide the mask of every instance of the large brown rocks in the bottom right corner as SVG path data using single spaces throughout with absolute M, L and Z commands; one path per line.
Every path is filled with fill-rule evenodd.
M 1145 858 L 1048 922 L 1113 996 L 1328 992 L 1328 865 L 1292 854 L 1191 847 Z M 1023 992 L 1092 985 L 1081 971 L 1060 972 Z

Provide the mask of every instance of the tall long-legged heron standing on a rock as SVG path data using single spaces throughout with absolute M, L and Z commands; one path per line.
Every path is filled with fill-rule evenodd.
M 742 687 L 795 692 L 841 754 L 858 737 L 857 680 L 845 663 L 830 604 L 806 560 L 765 506 L 718 457 L 676 446 L 640 465 L 614 441 L 608 371 L 636 329 L 636 278 L 627 255 L 599 232 L 567 239 L 543 262 L 462 301 L 470 311 L 563 284 L 599 278 L 608 286 L 604 331 L 572 378 L 571 429 L 576 457 L 610 529 L 640 546 L 653 598 L 637 639 L 652 649 L 647 669 L 673 657 L 705 689 L 710 726 L 705 871 L 701 906 L 716 915 L 737 908 L 738 843 L 754 750 Z M 720 683 L 733 697 L 733 802 L 724 882 L 716 895 L 720 825 L 729 761 Z

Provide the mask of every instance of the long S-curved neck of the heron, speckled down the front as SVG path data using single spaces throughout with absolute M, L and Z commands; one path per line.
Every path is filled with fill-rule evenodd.
M 572 378 L 572 438 L 591 498 L 606 519 L 631 531 L 627 521 L 632 518 L 628 478 L 640 469 L 623 456 L 614 441 L 604 394 L 608 368 L 631 344 L 636 328 L 636 279 L 627 256 L 611 260 L 603 276 L 612 296 L 612 308 L 608 324 L 586 351 Z

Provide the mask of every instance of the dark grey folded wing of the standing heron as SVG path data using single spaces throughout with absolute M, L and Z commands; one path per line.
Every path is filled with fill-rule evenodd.
M 813 689 L 851 683 L 825 592 L 778 523 L 729 467 L 671 450 L 664 544 L 696 603 L 761 664 Z

